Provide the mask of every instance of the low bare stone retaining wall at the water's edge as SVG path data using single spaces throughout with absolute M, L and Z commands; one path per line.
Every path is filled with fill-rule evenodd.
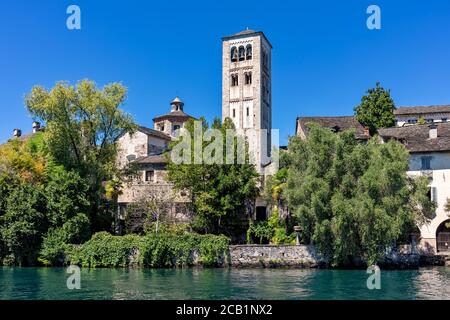
M 230 246 L 232 267 L 305 267 L 317 268 L 326 262 L 314 246 L 237 245 Z

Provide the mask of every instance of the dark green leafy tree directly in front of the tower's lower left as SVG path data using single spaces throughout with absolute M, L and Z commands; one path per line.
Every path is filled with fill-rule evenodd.
M 222 124 L 215 119 L 212 129 L 218 129 L 221 137 L 206 142 L 205 133 L 208 124 L 202 118 L 200 136 L 202 138 L 202 150 L 206 152 L 208 146 L 221 143 L 226 146 L 226 131 L 233 137 L 233 164 L 195 164 L 194 150 L 194 121 L 186 124 L 186 130 L 190 133 L 189 148 L 192 152 L 188 155 L 190 163 L 176 164 L 169 156 L 168 178 L 174 183 L 177 190 L 185 190 L 191 198 L 191 211 L 194 213 L 193 228 L 199 232 L 226 234 L 238 238 L 245 234 L 246 221 L 255 197 L 259 193 L 257 188 L 258 174 L 252 164 L 248 162 L 248 148 L 241 150 L 247 161 L 239 164 L 238 161 L 238 137 L 231 119 L 226 119 Z M 218 140 L 216 140 L 218 139 Z M 220 139 L 223 139 L 220 141 Z M 174 148 L 178 142 L 174 142 Z M 225 147 L 223 150 L 214 151 L 214 156 L 225 159 Z M 241 154 L 242 156 L 242 154 Z M 250 208 L 250 209 L 249 209 Z

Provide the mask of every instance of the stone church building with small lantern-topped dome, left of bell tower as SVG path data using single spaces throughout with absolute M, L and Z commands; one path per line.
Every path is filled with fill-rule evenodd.
M 167 220 L 189 221 L 186 208 L 189 199 L 184 192 L 174 192 L 173 185 L 167 181 L 167 160 L 164 155 L 174 139 L 173 132 L 193 118 L 183 111 L 183 106 L 184 103 L 176 97 L 171 102 L 169 113 L 153 119 L 155 129 L 139 126 L 135 132 L 124 133 L 117 140 L 118 166 L 123 168 L 132 163 L 138 170 L 137 176 L 124 186 L 118 198 L 118 217 L 122 222 L 127 206 L 145 199 L 172 203 Z

